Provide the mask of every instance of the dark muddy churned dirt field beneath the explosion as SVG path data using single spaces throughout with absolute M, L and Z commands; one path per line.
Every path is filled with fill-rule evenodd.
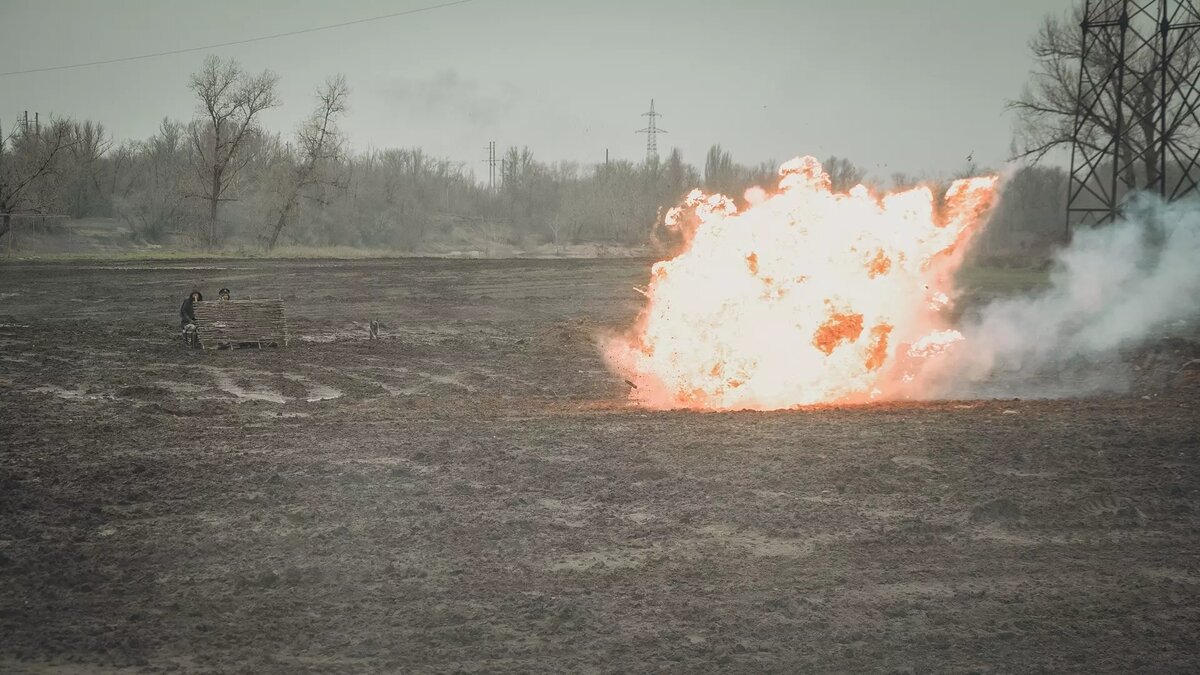
M 1121 396 L 652 413 L 590 344 L 648 264 L 0 265 L 0 670 L 1200 669 L 1194 342 Z M 184 350 L 193 286 L 290 346 Z

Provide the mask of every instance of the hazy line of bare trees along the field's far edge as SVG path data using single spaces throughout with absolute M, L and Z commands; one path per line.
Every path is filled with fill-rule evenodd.
M 492 189 L 464 163 L 420 148 L 347 151 L 337 131 L 348 94 L 341 78 L 318 91 L 313 114 L 290 136 L 258 125 L 257 113 L 278 104 L 269 72 L 251 77 L 210 58 L 191 86 L 196 119 L 164 119 L 144 141 L 114 143 L 92 121 L 13 127 L 0 144 L 0 214 L 113 217 L 138 241 L 184 240 L 209 250 L 292 244 L 415 251 L 454 238 L 484 247 L 642 246 L 654 241 L 666 208 L 691 189 L 739 197 L 751 185 L 770 185 L 778 171 L 776 162 L 739 165 L 720 145 L 702 167 L 679 150 L 659 161 L 580 165 L 542 162 L 514 147 L 502 153 Z M 868 177 L 840 157 L 824 165 L 840 190 L 859 181 L 944 186 L 953 178 Z M 1057 168 L 1016 172 L 985 246 L 1009 255 L 1061 239 L 1064 191 Z

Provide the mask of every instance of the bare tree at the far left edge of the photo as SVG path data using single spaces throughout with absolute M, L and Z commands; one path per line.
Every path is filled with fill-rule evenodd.
M 0 238 L 11 229 L 13 214 L 49 207 L 49 191 L 42 184 L 60 171 L 74 142 L 68 120 L 53 120 L 37 133 L 16 127 L 0 137 Z

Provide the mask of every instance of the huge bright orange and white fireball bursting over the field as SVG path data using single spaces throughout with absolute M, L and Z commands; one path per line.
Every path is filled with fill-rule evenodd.
M 738 208 L 695 190 L 666 222 L 683 252 L 654 264 L 634 328 L 604 345 L 653 408 L 779 410 L 895 398 L 962 335 L 944 292 L 996 177 L 835 193 L 812 157 Z

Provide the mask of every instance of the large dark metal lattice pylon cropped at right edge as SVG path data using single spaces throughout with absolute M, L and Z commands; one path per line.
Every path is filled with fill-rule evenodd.
M 1067 232 L 1200 181 L 1200 1 L 1086 0 Z

